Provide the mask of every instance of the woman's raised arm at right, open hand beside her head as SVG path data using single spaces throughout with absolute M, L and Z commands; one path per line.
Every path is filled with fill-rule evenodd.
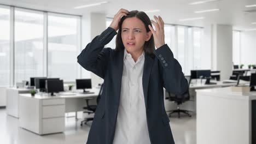
M 173 57 L 170 48 L 165 44 L 164 21 L 162 18 L 154 16 L 155 21 L 151 20 L 155 26 L 155 30 L 149 25 L 150 31 L 154 36 L 156 46 L 155 55 L 159 59 L 161 65 L 160 73 L 163 86 L 168 92 L 173 94 L 183 94 L 188 91 L 188 82 L 182 73 L 179 62 Z

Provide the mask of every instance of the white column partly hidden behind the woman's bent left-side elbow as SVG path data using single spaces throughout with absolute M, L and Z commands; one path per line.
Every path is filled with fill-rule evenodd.
M 82 17 L 82 50 L 97 35 L 106 29 L 106 14 L 90 13 Z M 92 87 L 102 83 L 103 79 L 82 68 L 82 78 L 90 78 Z

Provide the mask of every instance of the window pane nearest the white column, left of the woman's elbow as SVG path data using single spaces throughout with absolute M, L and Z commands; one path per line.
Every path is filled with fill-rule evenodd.
M 74 81 L 80 77 L 80 17 L 48 14 L 48 77 Z

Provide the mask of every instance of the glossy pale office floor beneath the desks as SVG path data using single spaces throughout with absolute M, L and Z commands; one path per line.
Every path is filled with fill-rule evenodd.
M 170 118 L 170 125 L 176 144 L 196 143 L 196 117 L 184 116 Z M 8 116 L 5 109 L 0 109 L 0 143 L 3 144 L 60 144 L 60 143 L 86 143 L 90 126 L 80 127 L 80 121 L 66 118 L 65 133 L 39 136 L 18 127 L 17 118 Z M 90 124 L 90 123 L 89 123 Z

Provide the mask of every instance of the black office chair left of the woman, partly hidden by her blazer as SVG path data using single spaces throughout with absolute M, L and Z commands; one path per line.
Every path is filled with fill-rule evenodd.
M 97 97 L 97 100 L 96 100 L 97 101 L 97 105 L 98 105 L 98 103 L 100 102 L 100 99 L 101 99 L 102 89 L 103 89 L 103 83 L 101 85 L 101 89 L 100 89 L 100 92 L 98 93 L 98 97 Z M 86 100 L 86 105 L 87 106 L 83 107 L 83 109 L 86 110 L 86 111 L 84 111 L 84 113 L 88 113 L 88 114 L 95 113 L 95 111 L 97 109 L 97 105 L 90 105 L 89 104 L 89 101 L 92 100 L 92 99 L 85 99 L 85 100 Z M 87 122 L 93 121 L 93 120 L 94 120 L 94 117 L 85 118 L 83 121 L 81 121 L 80 125 L 82 126 L 83 123 L 87 124 Z

